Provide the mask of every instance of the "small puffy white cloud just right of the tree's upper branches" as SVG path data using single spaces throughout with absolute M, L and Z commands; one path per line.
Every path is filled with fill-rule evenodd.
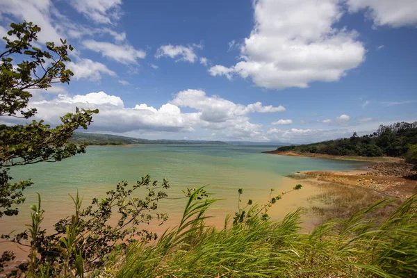
M 70 62 L 67 64 L 68 69 L 74 72 L 74 79 L 88 79 L 90 81 L 99 81 L 101 74 L 108 74 L 110 76 L 117 76 L 113 70 L 99 62 L 90 59 L 80 59 L 77 62 Z

